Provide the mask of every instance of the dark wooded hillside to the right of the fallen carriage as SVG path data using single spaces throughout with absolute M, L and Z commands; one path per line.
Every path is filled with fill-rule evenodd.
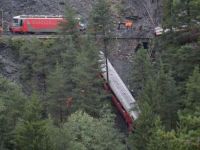
M 134 150 L 200 148 L 199 10 L 199 0 L 164 0 L 163 26 L 170 31 L 133 59 L 141 109 L 129 137 Z

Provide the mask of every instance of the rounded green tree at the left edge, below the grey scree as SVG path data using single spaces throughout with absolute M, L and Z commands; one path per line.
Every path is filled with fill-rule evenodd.
M 24 113 L 26 96 L 21 88 L 0 76 L 0 148 L 12 147 L 12 131 Z

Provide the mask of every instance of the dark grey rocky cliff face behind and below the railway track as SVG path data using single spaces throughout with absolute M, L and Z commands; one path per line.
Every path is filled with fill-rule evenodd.
M 63 15 L 65 5 L 73 7 L 77 14 L 86 20 L 97 0 L 0 0 L 0 10 L 3 10 L 4 30 L 8 29 L 8 24 L 13 16 L 17 15 Z M 111 4 L 113 19 L 115 22 L 114 31 L 117 34 L 138 37 L 153 36 L 153 30 L 161 22 L 162 0 L 108 0 Z M 134 21 L 131 30 L 122 28 L 117 31 L 117 23 L 124 21 L 125 17 L 138 16 Z M 114 44 L 113 44 L 114 43 Z M 138 39 L 112 41 L 108 48 L 111 52 L 111 60 L 122 79 L 128 83 L 130 70 L 130 57 L 134 55 L 135 48 L 141 41 Z M 1 47 L 0 47 L 1 49 Z M 4 58 L 0 54 L 1 62 Z M 12 66 L 11 64 L 8 66 Z M 9 74 L 14 70 L 6 67 L 4 70 Z M 124 73 L 126 72 L 126 73 Z

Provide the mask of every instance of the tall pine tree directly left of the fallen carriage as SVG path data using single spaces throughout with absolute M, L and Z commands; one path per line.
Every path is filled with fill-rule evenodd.
M 72 81 L 75 84 L 74 108 L 78 107 L 92 116 L 99 116 L 106 95 L 102 88 L 102 80 L 98 77 L 99 52 L 90 39 L 85 39 L 84 43 L 77 53 L 76 64 L 72 70 Z

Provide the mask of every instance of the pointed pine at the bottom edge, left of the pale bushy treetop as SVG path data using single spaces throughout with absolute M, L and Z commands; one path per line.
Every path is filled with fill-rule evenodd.
M 24 117 L 15 128 L 15 145 L 23 150 L 51 150 L 46 129 L 46 121 L 42 118 L 42 108 L 38 98 L 33 95 L 27 103 Z

